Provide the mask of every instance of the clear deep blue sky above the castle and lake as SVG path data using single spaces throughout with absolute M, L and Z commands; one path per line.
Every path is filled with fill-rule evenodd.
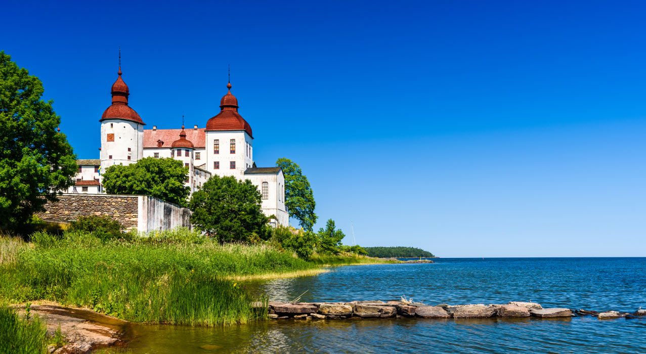
M 232 92 L 318 226 L 439 256 L 646 256 L 643 1 L 5 1 L 0 49 L 98 158 L 121 46 L 152 127 Z

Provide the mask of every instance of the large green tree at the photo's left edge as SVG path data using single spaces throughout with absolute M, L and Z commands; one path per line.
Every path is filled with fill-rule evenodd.
M 76 155 L 43 83 L 0 51 L 0 225 L 16 231 L 74 185 Z

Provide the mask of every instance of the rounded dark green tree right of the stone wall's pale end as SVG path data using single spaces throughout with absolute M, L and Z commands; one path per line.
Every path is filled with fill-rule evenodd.
M 271 231 L 261 202 L 260 191 L 251 181 L 214 175 L 193 193 L 189 202 L 191 222 L 220 243 L 246 242 L 253 234 L 267 240 Z

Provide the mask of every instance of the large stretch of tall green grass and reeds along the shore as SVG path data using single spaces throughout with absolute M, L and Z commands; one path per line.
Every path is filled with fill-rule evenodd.
M 101 240 L 89 233 L 0 236 L 0 299 L 87 307 L 145 323 L 216 326 L 267 318 L 240 280 L 315 275 L 365 256 L 305 261 L 269 244 L 220 245 L 187 229 Z

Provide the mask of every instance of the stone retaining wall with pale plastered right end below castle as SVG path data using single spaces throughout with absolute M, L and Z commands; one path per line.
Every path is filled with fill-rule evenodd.
M 152 196 L 114 194 L 63 194 L 58 202 L 47 202 L 42 219 L 74 221 L 79 216 L 107 216 L 125 230 L 167 230 L 191 227 L 191 211 Z

